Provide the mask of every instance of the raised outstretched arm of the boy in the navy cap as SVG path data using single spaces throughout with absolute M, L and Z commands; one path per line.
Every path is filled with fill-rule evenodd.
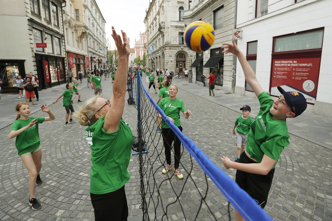
M 230 52 L 237 56 L 237 59 L 240 61 L 244 72 L 245 81 L 252 87 L 256 96 L 259 96 L 262 92 L 264 92 L 262 86 L 256 78 L 253 68 L 250 66 L 248 61 L 245 59 L 243 53 L 237 47 L 235 40 L 233 40 L 232 43 L 224 43 L 222 45 L 223 46 L 221 48 L 224 49 L 222 53 L 227 54 Z

